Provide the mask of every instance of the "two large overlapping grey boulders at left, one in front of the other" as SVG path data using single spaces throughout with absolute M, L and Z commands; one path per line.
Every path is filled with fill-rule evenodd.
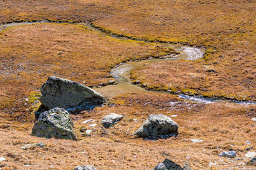
M 60 77 L 50 76 L 42 85 L 40 109 L 31 135 L 76 140 L 69 112 L 102 105 L 104 97 L 91 88 Z M 69 111 L 69 112 L 68 112 Z

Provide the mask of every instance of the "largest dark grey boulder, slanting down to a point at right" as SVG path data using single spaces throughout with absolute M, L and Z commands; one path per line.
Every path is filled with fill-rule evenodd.
M 60 77 L 50 76 L 41 89 L 40 102 L 48 109 L 61 107 L 72 110 L 83 110 L 102 105 L 104 97 L 97 91 Z

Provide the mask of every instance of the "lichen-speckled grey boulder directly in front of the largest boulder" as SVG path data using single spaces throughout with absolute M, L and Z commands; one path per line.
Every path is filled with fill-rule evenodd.
M 65 109 L 58 107 L 40 114 L 32 129 L 31 135 L 77 141 L 70 114 Z

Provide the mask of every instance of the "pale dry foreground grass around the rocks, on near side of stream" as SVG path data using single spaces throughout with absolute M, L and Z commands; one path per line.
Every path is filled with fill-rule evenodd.
M 117 101 L 124 101 L 120 104 Z M 72 116 L 79 141 L 31 137 L 32 123 L 14 123 L 0 120 L 1 162 L 3 168 L 72 169 L 79 164 L 92 164 L 97 169 L 152 169 L 164 158 L 180 165 L 189 164 L 193 169 L 239 169 L 241 161 L 221 158 L 218 153 L 236 150 L 237 158 L 244 157 L 245 148 L 254 146 L 255 106 L 228 103 L 196 104 L 185 102 L 164 93 L 125 93 L 112 100 L 115 106 L 98 107 L 94 111 Z M 102 130 L 100 121 L 108 113 L 123 114 L 124 120 L 113 128 Z M 161 113 L 173 117 L 179 124 L 179 135 L 158 141 L 146 141 L 131 134 L 149 114 Z M 82 124 L 82 121 L 95 121 Z M 134 120 L 137 119 L 137 120 Z M 14 123 L 14 125 L 13 125 Z M 96 123 L 95 127 L 89 127 Z M 92 129 L 91 136 L 83 136 L 79 129 Z M 191 143 L 191 139 L 203 139 L 203 143 Z M 22 150 L 20 146 L 42 141 L 45 148 Z M 250 141 L 252 144 L 246 144 Z M 190 158 L 189 158 L 190 157 Z M 246 159 L 248 160 L 248 159 Z M 246 166 L 252 168 L 252 166 Z

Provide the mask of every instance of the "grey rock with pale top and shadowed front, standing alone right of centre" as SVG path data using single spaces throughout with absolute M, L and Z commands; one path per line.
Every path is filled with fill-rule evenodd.
M 168 116 L 164 116 L 163 114 L 150 114 L 145 123 L 143 123 L 133 135 L 159 139 L 177 135 L 178 128 L 177 123 Z

